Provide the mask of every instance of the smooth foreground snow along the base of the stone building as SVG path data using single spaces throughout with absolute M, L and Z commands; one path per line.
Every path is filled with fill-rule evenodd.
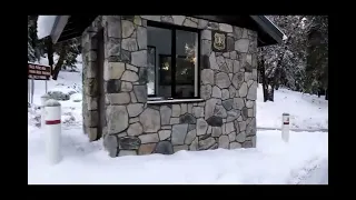
M 256 149 L 179 151 L 172 156 L 112 159 L 102 150 L 102 141 L 88 142 L 81 129 L 70 129 L 62 136 L 62 162 L 49 166 L 44 158 L 43 132 L 29 130 L 28 137 L 29 183 L 296 183 L 303 179 L 298 171 L 304 166 L 317 164 L 312 161 L 327 158 L 328 149 L 325 132 L 291 132 L 290 142 L 285 144 L 278 131 L 260 131 Z

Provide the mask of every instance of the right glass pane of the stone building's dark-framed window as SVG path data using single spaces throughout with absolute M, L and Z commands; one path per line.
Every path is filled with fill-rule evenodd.
M 178 98 L 197 97 L 198 33 L 176 31 L 176 94 Z

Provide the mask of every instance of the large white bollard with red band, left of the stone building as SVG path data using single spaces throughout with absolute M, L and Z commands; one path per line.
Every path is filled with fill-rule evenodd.
M 61 160 L 60 142 L 61 142 L 61 108 L 60 103 L 55 99 L 49 99 L 44 103 L 44 138 L 46 138 L 46 156 L 51 164 L 56 164 Z

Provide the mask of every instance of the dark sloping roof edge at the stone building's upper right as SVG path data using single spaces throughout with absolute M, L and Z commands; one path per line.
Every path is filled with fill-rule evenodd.
M 283 39 L 286 37 L 281 30 L 274 24 L 268 18 L 265 16 L 250 16 L 256 23 L 266 31 L 275 41 L 276 43 L 281 43 Z

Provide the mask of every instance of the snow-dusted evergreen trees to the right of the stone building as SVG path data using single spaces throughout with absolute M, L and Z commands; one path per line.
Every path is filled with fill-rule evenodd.
M 259 49 L 258 71 L 265 101 L 279 86 L 316 93 L 328 87 L 328 23 L 324 16 L 269 16 L 287 36 L 281 44 Z M 265 79 L 265 80 L 264 80 Z M 327 97 L 326 97 L 327 98 Z

